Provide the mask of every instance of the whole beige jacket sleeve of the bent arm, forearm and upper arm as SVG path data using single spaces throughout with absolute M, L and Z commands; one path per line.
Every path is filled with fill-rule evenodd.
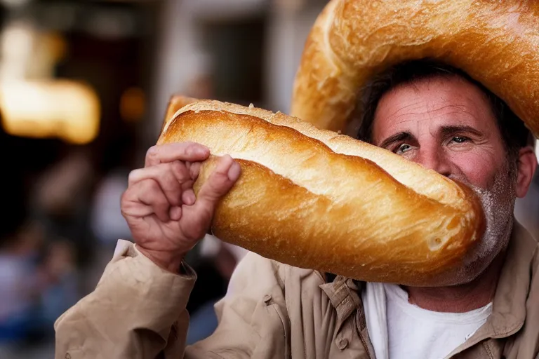
M 121 241 L 94 292 L 55 323 L 55 359 L 284 358 L 289 333 L 278 264 L 249 253 L 215 305 L 218 327 L 185 348 L 196 280 L 168 273 Z

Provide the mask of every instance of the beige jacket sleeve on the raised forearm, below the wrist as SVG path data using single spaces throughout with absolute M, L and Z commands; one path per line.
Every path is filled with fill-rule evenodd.
M 185 273 L 164 271 L 119 241 L 95 290 L 56 321 L 55 358 L 181 358 L 196 280 L 188 266 Z

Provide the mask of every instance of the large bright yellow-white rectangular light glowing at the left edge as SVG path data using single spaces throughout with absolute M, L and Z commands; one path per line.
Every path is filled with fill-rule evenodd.
M 1 83 L 0 111 L 2 126 L 15 136 L 86 144 L 99 132 L 98 96 L 74 81 Z

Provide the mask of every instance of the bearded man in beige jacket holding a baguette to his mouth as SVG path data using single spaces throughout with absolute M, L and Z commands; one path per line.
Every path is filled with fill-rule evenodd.
M 182 259 L 241 168 L 223 157 L 195 198 L 209 151 L 169 144 L 131 173 L 122 210 L 136 245 L 119 245 L 95 292 L 59 318 L 57 358 L 534 358 L 538 243 L 512 215 L 537 166 L 524 126 L 465 74 L 428 61 L 380 76 L 364 109 L 360 137 L 481 197 L 486 234 L 455 285 L 362 283 L 250 253 L 216 306 L 218 329 L 185 348 L 195 274 Z

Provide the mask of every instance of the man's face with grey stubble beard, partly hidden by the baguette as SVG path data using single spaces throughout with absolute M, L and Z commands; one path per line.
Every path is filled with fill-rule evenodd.
M 455 284 L 477 276 L 507 244 L 516 197 L 516 181 L 486 96 L 456 77 L 399 86 L 380 99 L 372 140 L 479 194 L 486 233 Z

